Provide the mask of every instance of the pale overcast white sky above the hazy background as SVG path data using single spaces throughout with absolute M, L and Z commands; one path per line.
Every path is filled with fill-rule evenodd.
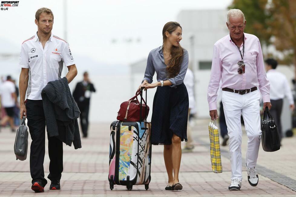
M 232 0 L 67 0 L 67 6 L 64 2 L 20 0 L 18 7 L 0 10 L 0 40 L 11 43 L 1 42 L 0 53 L 9 47 L 19 53 L 21 43 L 37 31 L 35 12 L 48 7 L 54 13 L 52 33 L 68 41 L 74 58 L 129 65 L 162 44 L 163 25 L 176 21 L 181 10 L 225 9 Z

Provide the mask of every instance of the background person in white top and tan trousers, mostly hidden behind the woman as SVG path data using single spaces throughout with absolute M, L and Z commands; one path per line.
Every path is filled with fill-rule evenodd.
M 194 75 L 193 72 L 188 68 L 185 78 L 184 78 L 184 84 L 187 88 L 187 92 L 188 92 L 188 98 L 189 98 L 189 110 L 188 110 L 188 124 L 187 124 L 187 142 L 185 144 L 185 147 L 183 148 L 183 150 L 186 152 L 190 152 L 193 150 L 194 148 L 194 140 L 192 137 L 192 129 L 191 126 L 189 124 L 189 117 L 190 117 L 190 112 L 192 109 L 194 109 L 195 107 L 195 99 L 194 99 Z

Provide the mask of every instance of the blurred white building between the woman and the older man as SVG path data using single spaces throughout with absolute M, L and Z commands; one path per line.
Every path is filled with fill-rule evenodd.
M 183 10 L 177 16 L 182 26 L 181 46 L 189 53 L 195 76 L 196 111 L 199 118 L 209 117 L 207 89 L 211 73 L 213 45 L 229 33 L 226 10 Z M 219 103 L 218 103 L 219 104 Z

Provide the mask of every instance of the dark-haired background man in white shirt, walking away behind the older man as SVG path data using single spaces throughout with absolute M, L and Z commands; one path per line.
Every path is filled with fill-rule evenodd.
M 280 141 L 283 137 L 281 129 L 281 111 L 283 108 L 283 98 L 286 96 L 288 98 L 290 109 L 294 111 L 294 99 L 289 86 L 287 77 L 284 74 L 276 71 L 278 62 L 275 59 L 269 58 L 265 60 L 266 75 L 270 82 L 270 102 L 272 108 L 270 110 L 272 118 L 275 120 L 275 124 L 278 126 L 278 134 Z

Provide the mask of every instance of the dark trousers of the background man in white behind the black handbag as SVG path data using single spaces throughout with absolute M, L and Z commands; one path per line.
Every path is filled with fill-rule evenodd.
M 283 99 L 270 100 L 270 102 L 272 105 L 270 114 L 272 118 L 275 120 L 275 124 L 278 126 L 278 135 L 281 141 L 281 138 L 283 136 L 282 130 L 281 130 L 281 111 L 283 109 Z

